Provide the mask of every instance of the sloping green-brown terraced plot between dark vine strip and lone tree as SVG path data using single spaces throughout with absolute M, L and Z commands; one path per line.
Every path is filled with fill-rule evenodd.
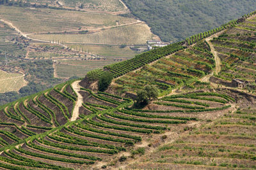
M 200 45 L 201 47 L 194 46 L 186 50 L 180 48 L 178 45 L 175 48 L 180 50 L 179 52 L 167 55 L 156 62 L 152 62 L 136 71 L 132 71 L 117 78 L 109 89 L 115 89 L 115 92 L 118 92 L 118 94 L 124 94 L 125 92 L 138 92 L 138 90 L 143 89 L 145 85 L 155 85 L 157 89 L 159 89 L 161 96 L 164 96 L 170 93 L 173 88 L 183 86 L 192 87 L 192 83 L 195 83 L 195 81 L 211 73 L 212 69 L 215 67 L 214 57 L 212 53 L 207 50 L 207 43 L 201 41 Z M 148 54 L 147 59 L 149 56 L 156 57 L 154 52 Z M 124 67 L 129 71 L 129 66 Z M 122 73 L 124 69 L 118 70 L 120 66 L 112 67 L 113 68 L 107 66 L 106 69 L 109 69 L 112 73 L 116 73 L 118 76 L 122 75 L 119 73 Z

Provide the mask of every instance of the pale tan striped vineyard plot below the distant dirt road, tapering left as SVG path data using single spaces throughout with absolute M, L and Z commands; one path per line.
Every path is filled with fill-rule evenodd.
M 31 34 L 30 38 L 63 43 L 141 45 L 152 39 L 147 24 L 126 25 L 95 34 Z

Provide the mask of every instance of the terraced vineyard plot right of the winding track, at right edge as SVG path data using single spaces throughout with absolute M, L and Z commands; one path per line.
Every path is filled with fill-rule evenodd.
M 252 31 L 253 26 L 256 28 L 254 18 L 248 18 L 211 40 L 222 64 L 220 73 L 215 76 L 228 82 L 235 78 L 249 81 L 251 84 L 247 90 L 251 92 L 256 89 L 256 31 Z

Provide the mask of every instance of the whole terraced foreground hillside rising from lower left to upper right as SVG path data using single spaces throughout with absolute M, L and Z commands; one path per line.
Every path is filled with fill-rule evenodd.
M 187 39 L 156 48 L 92 71 L 93 79 L 70 80 L 1 106 L 0 167 L 255 169 L 256 96 L 244 87 L 254 77 L 246 74 L 246 81 L 227 87 L 210 82 L 227 71 L 223 65 L 245 69 L 243 64 L 253 60 L 255 31 L 248 29 L 255 13 L 206 38 L 191 37 L 197 42 L 190 46 Z M 237 53 L 217 51 L 218 44 Z M 221 55 L 236 60 L 229 66 Z M 99 92 L 97 79 L 107 73 L 115 80 Z M 147 85 L 159 96 L 143 108 L 124 97 Z

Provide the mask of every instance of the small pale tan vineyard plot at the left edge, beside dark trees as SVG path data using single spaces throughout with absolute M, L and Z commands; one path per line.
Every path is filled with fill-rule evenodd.
M 0 70 L 0 93 L 19 91 L 25 85 L 22 74 L 10 74 Z

